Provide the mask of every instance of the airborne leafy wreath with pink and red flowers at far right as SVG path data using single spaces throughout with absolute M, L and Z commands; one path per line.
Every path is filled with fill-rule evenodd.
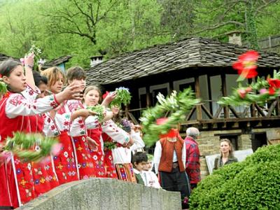
M 280 79 L 280 71 L 274 71 L 273 79 Z M 273 100 L 279 96 L 280 90 L 276 90 L 273 94 L 270 94 L 267 90 L 269 83 L 267 80 L 258 77 L 257 81 L 242 87 L 239 83 L 239 87 L 234 89 L 233 93 L 229 97 L 222 97 L 218 104 L 223 106 L 250 106 L 251 104 L 263 105 L 269 100 Z

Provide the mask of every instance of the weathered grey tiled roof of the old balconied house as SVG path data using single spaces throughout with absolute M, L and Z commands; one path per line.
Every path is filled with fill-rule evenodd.
M 228 67 L 246 50 L 209 38 L 188 38 L 109 59 L 91 67 L 87 80 L 105 85 L 191 67 Z M 258 66 L 280 68 L 280 57 L 273 52 L 260 52 Z

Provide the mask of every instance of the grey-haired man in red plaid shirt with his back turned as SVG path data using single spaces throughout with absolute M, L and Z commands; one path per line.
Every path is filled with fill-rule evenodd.
M 186 131 L 186 173 L 190 179 L 190 188 L 193 190 L 200 182 L 200 149 L 198 148 L 197 137 L 200 131 L 196 127 L 189 127 Z

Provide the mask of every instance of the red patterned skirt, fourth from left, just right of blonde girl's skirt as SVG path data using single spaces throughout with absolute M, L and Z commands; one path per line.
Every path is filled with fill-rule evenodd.
M 86 136 L 72 137 L 76 150 L 76 161 L 78 165 L 78 174 L 80 179 L 89 179 L 95 177 L 93 162 L 90 154 L 90 148 L 87 144 Z

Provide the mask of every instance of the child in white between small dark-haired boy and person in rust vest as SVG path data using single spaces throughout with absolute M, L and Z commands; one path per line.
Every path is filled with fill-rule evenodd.
M 145 186 L 153 187 L 153 188 L 161 188 L 160 183 L 158 182 L 158 176 L 156 176 L 155 173 L 151 171 L 152 167 L 153 167 L 153 155 L 148 154 L 148 162 L 146 162 L 141 177 L 144 181 Z

